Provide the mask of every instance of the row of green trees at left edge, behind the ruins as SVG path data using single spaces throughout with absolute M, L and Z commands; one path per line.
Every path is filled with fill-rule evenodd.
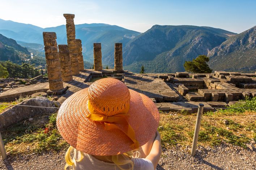
M 40 70 L 35 68 L 35 64 L 22 63 L 19 65 L 11 61 L 0 62 L 0 77 L 2 78 L 29 79 L 40 74 Z

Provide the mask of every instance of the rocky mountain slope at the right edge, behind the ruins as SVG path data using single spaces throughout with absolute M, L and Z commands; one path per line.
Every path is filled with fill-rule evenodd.
M 256 26 L 232 36 L 208 53 L 213 70 L 256 71 Z

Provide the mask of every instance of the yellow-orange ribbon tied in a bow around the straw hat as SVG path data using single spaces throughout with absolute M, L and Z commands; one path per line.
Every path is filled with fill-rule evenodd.
M 118 113 L 117 115 L 113 115 L 113 116 L 105 116 L 105 115 L 99 113 L 97 110 L 95 110 L 93 105 L 90 104 L 90 100 L 88 100 L 88 108 L 90 110 L 90 114 L 87 115 L 86 117 L 90 118 L 91 120 L 97 121 L 97 122 L 104 122 L 106 130 L 119 129 L 119 130 L 123 131 L 123 133 L 125 133 L 132 140 L 132 142 L 133 142 L 133 144 L 131 145 L 132 149 L 137 149 L 138 147 L 140 147 L 140 144 L 135 139 L 135 132 L 132 129 L 132 126 L 125 119 L 125 116 L 130 116 L 128 113 L 129 105 L 122 112 Z M 112 124 L 112 123 L 126 125 L 126 126 L 128 126 L 128 129 L 127 129 L 127 131 L 124 131 L 124 130 L 120 129 L 117 125 Z

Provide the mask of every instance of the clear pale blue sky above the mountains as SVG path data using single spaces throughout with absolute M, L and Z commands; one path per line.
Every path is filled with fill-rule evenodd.
M 145 32 L 155 24 L 196 25 L 236 33 L 256 25 L 256 0 L 1 0 L 0 18 L 39 27 L 107 23 Z

